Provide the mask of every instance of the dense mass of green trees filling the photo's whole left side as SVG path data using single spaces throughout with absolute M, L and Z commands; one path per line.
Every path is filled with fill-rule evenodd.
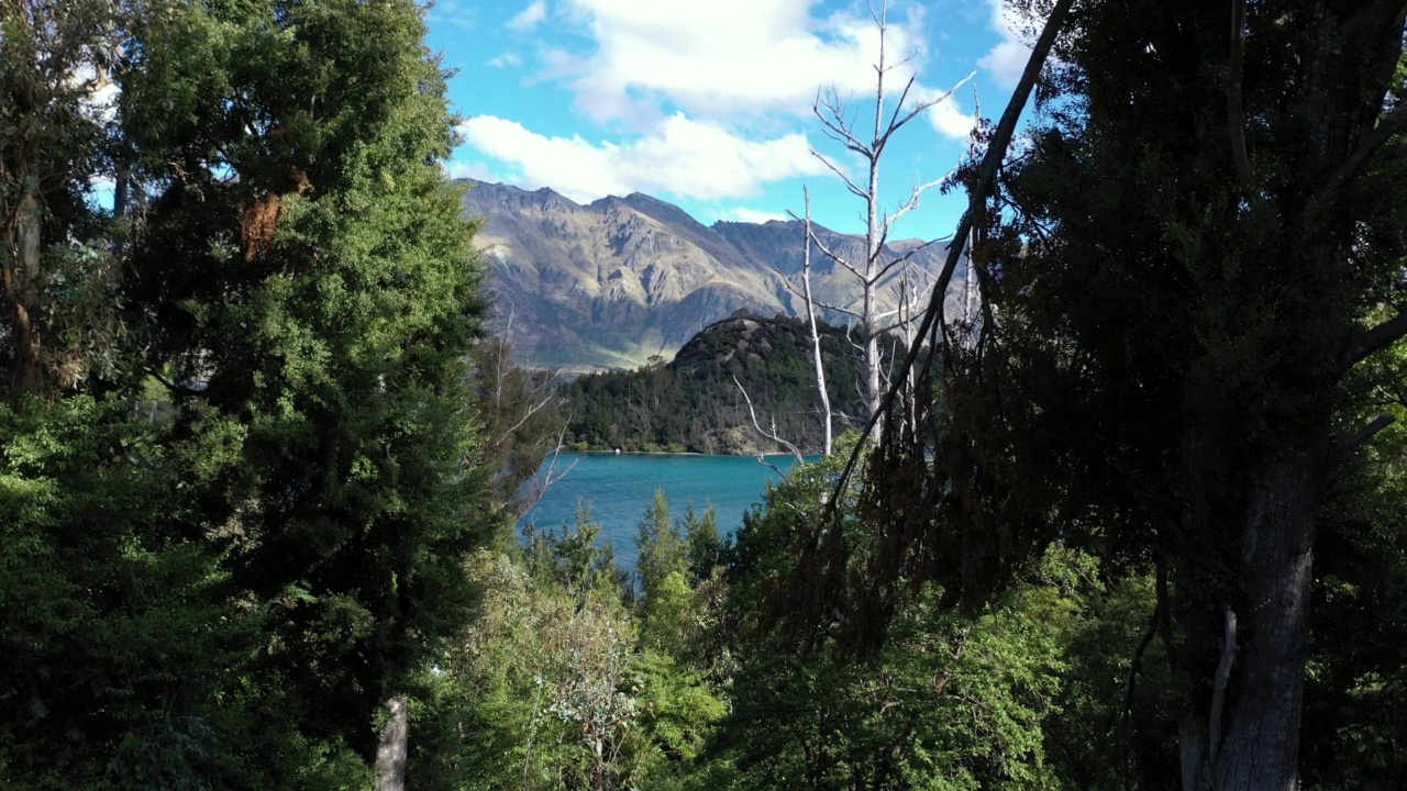
M 364 784 L 494 529 L 421 10 L 0 13 L 3 784 Z

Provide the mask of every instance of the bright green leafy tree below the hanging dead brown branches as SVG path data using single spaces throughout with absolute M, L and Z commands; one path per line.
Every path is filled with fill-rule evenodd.
M 837 456 L 795 467 L 736 536 L 722 629 L 739 667 L 732 711 L 709 747 L 712 780 L 736 788 L 1055 787 L 1044 729 L 1067 645 L 1097 590 L 1089 557 L 1052 548 L 1019 587 L 975 614 L 944 607 L 943 591 L 923 586 L 892 615 L 888 642 L 864 656 L 837 639 L 847 629 L 870 633 L 862 624 L 767 629 L 777 622 L 767 590 L 795 571 L 791 546 L 833 494 L 857 439 L 850 432 Z M 858 495 L 851 484 L 836 502 L 837 529 L 865 553 L 882 536 L 855 517 Z M 862 569 L 857 559 L 854 571 Z

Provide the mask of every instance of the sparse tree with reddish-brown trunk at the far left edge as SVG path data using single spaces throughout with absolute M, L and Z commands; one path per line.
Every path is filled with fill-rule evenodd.
M 110 373 L 122 332 L 113 228 L 87 205 L 104 153 L 108 0 L 27 0 L 0 11 L 0 356 L 7 391 Z

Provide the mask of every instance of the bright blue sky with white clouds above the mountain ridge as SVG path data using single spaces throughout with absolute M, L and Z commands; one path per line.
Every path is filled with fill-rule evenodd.
M 454 176 L 581 203 L 643 191 L 705 224 L 802 214 L 806 184 L 817 222 L 864 229 L 862 201 L 810 153 L 864 182 L 812 115 L 817 89 L 834 87 L 857 137 L 872 134 L 879 49 L 864 0 L 438 0 L 426 20 L 457 70 Z M 999 0 L 891 0 L 888 25 L 888 62 L 908 61 L 886 93 L 910 76 L 910 97 L 951 90 L 885 151 L 879 194 L 893 211 L 962 156 L 976 100 L 1000 114 L 1029 49 Z M 961 207 L 929 190 L 891 238 L 946 236 Z

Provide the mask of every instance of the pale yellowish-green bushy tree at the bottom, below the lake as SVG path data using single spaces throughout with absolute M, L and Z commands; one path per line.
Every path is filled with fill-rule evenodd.
M 599 529 L 582 507 L 574 526 L 529 532 L 526 564 L 471 559 L 478 612 L 436 662 L 416 787 L 640 785 L 651 750 L 636 632 Z

